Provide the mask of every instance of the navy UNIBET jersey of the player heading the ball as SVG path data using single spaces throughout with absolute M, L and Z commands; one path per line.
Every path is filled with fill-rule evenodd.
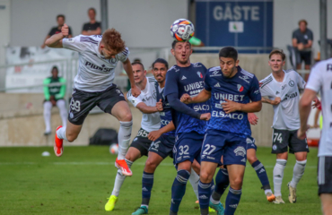
M 166 73 L 164 96 L 166 97 L 171 93 L 178 93 L 179 99 L 185 93 L 192 97 L 197 96 L 197 94 L 204 89 L 205 73 L 206 68 L 204 64 L 201 63 L 190 64 L 188 67 L 173 65 Z M 189 104 L 187 106 L 200 114 L 210 112 L 210 100 L 203 103 Z M 207 127 L 206 121 L 188 116 L 173 109 L 172 120 L 176 127 L 176 133 L 197 132 L 205 134 Z

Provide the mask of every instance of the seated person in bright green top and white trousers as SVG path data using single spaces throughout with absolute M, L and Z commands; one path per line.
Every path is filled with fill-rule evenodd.
M 48 84 L 59 83 L 57 86 L 48 86 Z M 61 83 L 63 85 L 61 85 Z M 51 133 L 51 109 L 57 106 L 59 108 L 62 125 L 66 126 L 66 80 L 58 76 L 57 66 L 52 68 L 52 76 L 44 80 L 44 121 L 45 121 L 45 135 Z

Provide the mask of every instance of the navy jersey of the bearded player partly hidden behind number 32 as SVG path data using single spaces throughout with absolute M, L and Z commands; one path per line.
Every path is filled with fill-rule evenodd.
M 170 113 L 170 103 L 166 102 L 165 96 L 163 95 L 163 90 L 160 90 L 158 82 L 155 82 L 155 90 L 157 92 L 157 102 L 162 99 L 162 108 L 163 111 L 160 112 L 161 116 L 161 128 L 165 125 L 168 125 L 171 121 L 171 113 Z M 170 131 L 168 133 L 164 133 L 165 135 L 175 135 L 175 130 Z

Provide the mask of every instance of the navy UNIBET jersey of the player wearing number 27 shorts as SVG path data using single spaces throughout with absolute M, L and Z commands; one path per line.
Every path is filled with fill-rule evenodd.
M 241 111 L 226 114 L 222 103 L 225 99 L 242 104 L 261 100 L 256 76 L 238 66 L 238 73 L 232 78 L 226 78 L 220 66 L 212 67 L 205 76 L 205 90 L 211 91 L 212 114 L 208 129 L 250 136 L 248 114 Z

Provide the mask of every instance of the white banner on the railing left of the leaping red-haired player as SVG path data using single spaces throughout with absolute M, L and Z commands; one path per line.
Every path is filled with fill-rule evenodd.
M 43 84 L 51 75 L 53 66 L 57 66 L 59 76 L 66 79 L 68 59 L 77 57 L 77 53 L 65 48 L 41 47 L 7 47 L 7 64 L 18 64 L 7 67 L 5 88 L 22 88 Z M 42 64 L 36 64 L 45 62 Z M 23 65 L 19 65 L 23 64 Z M 7 92 L 42 92 L 42 87 L 6 90 Z

